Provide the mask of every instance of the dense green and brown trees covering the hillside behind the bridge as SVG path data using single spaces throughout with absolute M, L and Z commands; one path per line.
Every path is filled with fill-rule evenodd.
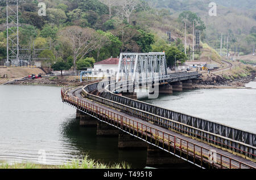
M 238 0 L 236 0 L 238 1 Z M 174 55 L 181 62 L 191 53 L 191 35 L 184 54 L 184 22 L 192 33 L 192 23 L 202 32 L 201 41 L 220 48 L 220 33 L 229 32 L 230 47 L 250 53 L 256 42 L 255 11 L 238 11 L 220 3 L 217 17 L 209 17 L 208 0 L 45 0 L 46 16 L 38 15 L 38 1 L 19 6 L 20 46 L 43 50 L 44 66 L 56 69 L 90 67 L 93 62 L 117 57 L 120 52 L 158 52 L 164 50 L 167 63 Z M 249 0 L 244 5 L 250 3 Z M 6 57 L 6 10 L 0 10 L 0 59 Z M 245 6 L 246 8 L 247 6 Z M 250 6 L 253 8 L 254 6 Z M 239 15 L 238 15 L 239 14 Z M 235 18 L 233 18 L 235 17 Z M 240 23 L 239 26 L 236 23 Z M 245 21 L 241 23 L 242 21 Z M 248 22 L 251 23 L 248 23 Z M 219 25 L 221 24 L 221 25 Z M 168 42 L 167 31 L 172 33 Z M 242 40 L 242 41 L 241 41 Z M 225 48 L 225 44 L 224 44 Z M 180 57 L 179 57 L 180 56 Z M 54 67 L 54 66 L 53 66 Z

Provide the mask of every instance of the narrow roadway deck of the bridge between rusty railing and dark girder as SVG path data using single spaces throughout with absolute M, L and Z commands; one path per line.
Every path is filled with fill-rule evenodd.
M 84 98 L 81 96 L 80 94 L 80 88 L 76 88 L 76 89 L 73 89 L 71 91 L 68 92 L 69 95 L 73 95 L 73 96 L 76 96 L 77 98 L 79 98 L 80 100 L 84 101 L 84 102 L 88 102 L 88 104 L 93 104 L 93 105 L 96 105 L 97 106 L 97 110 L 99 112 L 101 112 L 100 108 L 104 109 L 105 110 L 105 117 L 107 116 L 106 114 L 106 110 L 108 110 L 108 112 L 112 112 L 114 113 L 114 117 L 113 115 L 111 115 L 112 119 L 117 119 L 118 121 L 118 117 L 122 116 L 122 117 L 125 117 L 127 118 L 126 119 L 126 123 L 129 124 L 130 123 L 130 120 L 128 122 L 128 119 L 133 119 L 134 121 L 138 122 L 137 124 L 133 122 L 133 128 L 143 133 L 147 133 L 147 132 L 150 132 L 150 135 L 149 136 L 152 136 L 152 135 L 158 135 L 158 140 L 159 139 L 162 139 L 162 142 L 163 143 L 168 143 L 170 144 L 170 142 L 174 142 L 174 143 L 171 143 L 172 147 L 174 147 L 174 149 L 179 149 L 180 147 L 182 147 L 182 150 L 183 151 L 193 151 L 194 152 L 194 158 L 195 158 L 195 151 L 196 152 L 200 152 L 201 151 L 201 155 L 199 156 L 205 156 L 205 157 L 209 157 L 209 149 L 210 150 L 214 150 L 217 152 L 217 155 L 216 155 L 216 161 L 222 161 L 221 164 L 224 168 L 248 168 L 246 167 L 245 165 L 241 165 L 239 164 L 238 162 L 242 162 L 246 165 L 249 165 L 251 167 L 254 167 L 256 168 L 256 163 L 253 162 L 253 161 L 250 161 L 250 160 L 247 160 L 245 158 L 242 158 L 240 156 L 237 156 L 237 155 L 234 155 L 233 153 L 230 153 L 230 152 L 226 152 L 226 151 L 223 151 L 222 149 L 219 149 L 219 148 L 216 148 L 216 147 L 213 147 L 212 145 L 208 145 L 208 144 L 205 144 L 203 142 L 199 142 L 198 140 L 195 140 L 195 139 L 191 139 L 187 136 L 184 136 L 184 135 L 181 135 L 181 134 L 178 134 L 176 132 L 173 132 L 173 131 L 170 131 L 170 130 L 167 130 L 166 128 L 162 128 L 162 127 L 159 127 L 157 125 L 153 125 L 152 123 L 150 122 L 147 122 L 147 121 L 143 121 L 142 119 L 139 119 L 137 117 L 133 117 L 129 114 L 125 114 L 125 113 L 122 113 L 122 112 L 119 112 L 118 110 L 115 110 L 111 107 L 108 107 L 108 106 L 105 106 L 105 105 L 101 105 L 101 104 L 98 104 L 92 100 L 89 100 L 87 98 Z M 109 115 L 108 115 L 109 117 Z M 125 121 L 125 119 L 123 119 L 123 121 Z M 161 134 L 158 134 L 158 132 L 156 132 L 156 130 L 159 130 L 163 133 Z M 170 136 L 171 135 L 171 136 Z M 168 137 L 168 139 L 166 139 Z M 170 139 L 171 137 L 171 139 Z M 196 145 L 195 145 L 196 144 Z M 199 147 L 203 147 L 203 148 L 199 148 Z M 222 157 L 220 157 L 219 155 L 223 155 Z M 191 156 L 190 155 L 190 156 Z M 197 153 L 198 155 L 198 153 Z M 196 156 L 197 156 L 196 155 Z M 226 157 L 224 157 L 226 156 Z M 228 157 L 228 158 L 227 158 Z M 201 157 L 200 157 L 201 158 Z M 232 160 L 230 160 L 229 158 L 232 158 Z M 214 157 L 214 161 L 215 161 L 215 157 Z M 237 162 L 236 162 L 237 161 Z

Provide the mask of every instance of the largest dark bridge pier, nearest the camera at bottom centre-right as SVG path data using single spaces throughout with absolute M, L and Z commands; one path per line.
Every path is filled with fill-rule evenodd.
M 170 153 L 155 147 L 154 145 L 148 145 L 147 147 L 147 166 L 168 167 L 168 168 L 180 168 L 187 169 L 193 168 L 189 162 L 171 155 Z

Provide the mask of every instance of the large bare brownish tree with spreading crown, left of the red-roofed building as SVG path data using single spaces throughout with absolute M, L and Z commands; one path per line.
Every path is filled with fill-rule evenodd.
M 76 61 L 83 58 L 89 52 L 95 50 L 98 45 L 98 34 L 94 29 L 70 26 L 60 32 L 61 39 L 71 45 L 73 52 L 73 65 L 76 71 Z

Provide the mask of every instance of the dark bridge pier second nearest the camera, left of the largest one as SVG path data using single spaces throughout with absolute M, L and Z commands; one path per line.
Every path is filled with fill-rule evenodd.
M 125 132 L 118 135 L 119 149 L 147 149 L 147 143 Z

